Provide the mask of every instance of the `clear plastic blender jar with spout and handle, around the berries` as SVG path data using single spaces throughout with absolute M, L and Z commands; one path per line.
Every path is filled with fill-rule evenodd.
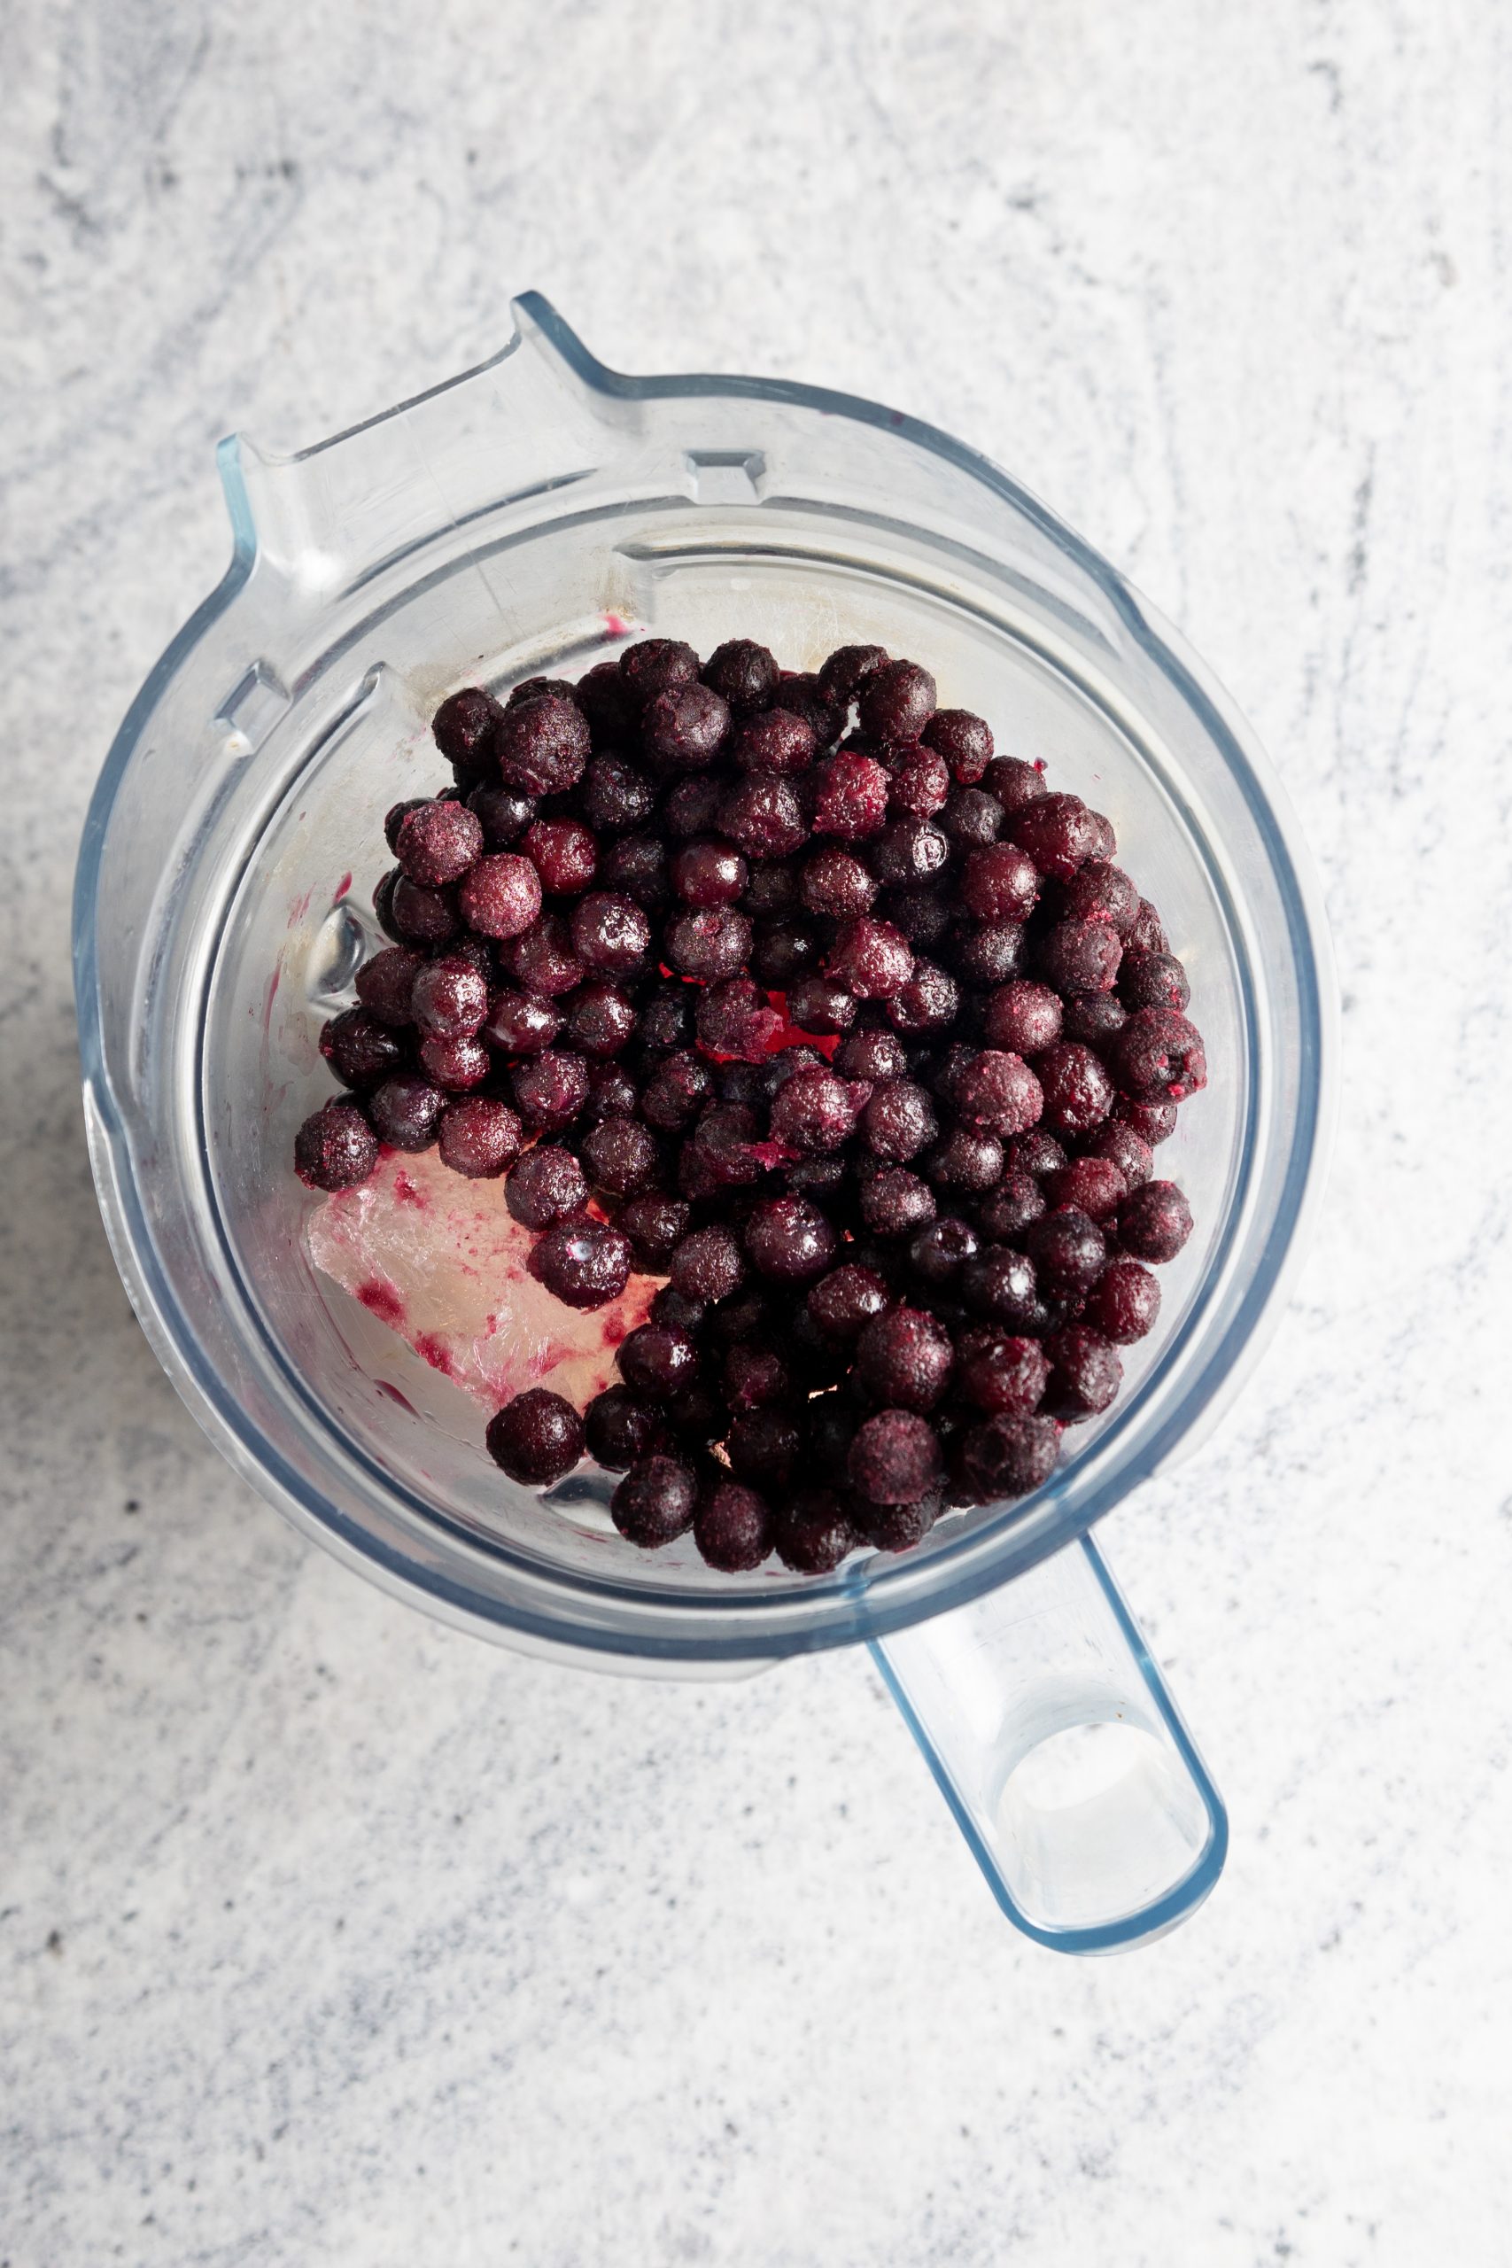
M 1086 1531 L 1211 1422 L 1297 1247 L 1331 1050 L 1294 823 L 1172 633 L 970 449 L 802 386 L 626 379 L 540 297 L 515 318 L 494 363 L 297 458 L 222 445 L 231 569 L 131 705 L 79 853 L 84 1105 L 136 1313 L 238 1472 L 449 1622 L 655 1676 L 868 1642 L 1004 1912 L 1063 1950 L 1149 1939 L 1213 1887 L 1226 1821 Z M 374 946 L 383 812 L 440 778 L 435 705 L 580 674 L 626 626 L 925 662 L 1108 812 L 1206 1039 L 1161 1152 L 1197 1229 L 1120 1402 L 1031 1499 L 823 1579 L 639 1554 L 592 1470 L 544 1508 L 301 1247 L 315 1036 Z

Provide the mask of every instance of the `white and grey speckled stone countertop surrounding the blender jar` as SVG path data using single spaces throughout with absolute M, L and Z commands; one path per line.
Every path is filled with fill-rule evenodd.
M 1496 0 L 11 11 L 0 2263 L 1510 2257 L 1510 45 Z M 623 1685 L 381 1599 L 118 1290 L 68 880 L 224 565 L 211 445 L 449 376 L 524 286 L 1006 463 L 1310 832 L 1317 1250 L 1106 1531 L 1233 1814 L 1152 1950 L 1016 1937 L 859 1658 Z

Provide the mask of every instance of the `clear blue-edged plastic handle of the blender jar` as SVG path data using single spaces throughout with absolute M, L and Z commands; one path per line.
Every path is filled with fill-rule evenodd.
M 873 1658 L 1009 1921 L 1118 1953 L 1213 1889 L 1229 1817 L 1084 1535 Z

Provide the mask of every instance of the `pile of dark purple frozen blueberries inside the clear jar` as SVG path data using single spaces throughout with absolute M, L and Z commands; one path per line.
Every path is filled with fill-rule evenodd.
M 388 814 L 394 941 L 295 1166 L 438 1143 L 503 1175 L 569 1306 L 666 1279 L 623 1383 L 517 1395 L 496 1463 L 589 1454 L 630 1542 L 691 1529 L 725 1572 L 1038 1488 L 1192 1227 L 1154 1148 L 1201 1039 L 1108 821 L 880 646 L 651 637 L 458 692 L 435 739 L 453 785 Z

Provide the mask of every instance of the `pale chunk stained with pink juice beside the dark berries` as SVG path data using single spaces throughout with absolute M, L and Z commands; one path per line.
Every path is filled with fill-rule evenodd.
M 630 1277 L 610 1306 L 580 1313 L 526 1275 L 533 1243 L 503 1182 L 467 1182 L 435 1150 L 385 1150 L 372 1179 L 322 1198 L 304 1232 L 315 1268 L 487 1411 L 526 1386 L 583 1408 L 617 1381 L 614 1347 L 662 1279 Z

